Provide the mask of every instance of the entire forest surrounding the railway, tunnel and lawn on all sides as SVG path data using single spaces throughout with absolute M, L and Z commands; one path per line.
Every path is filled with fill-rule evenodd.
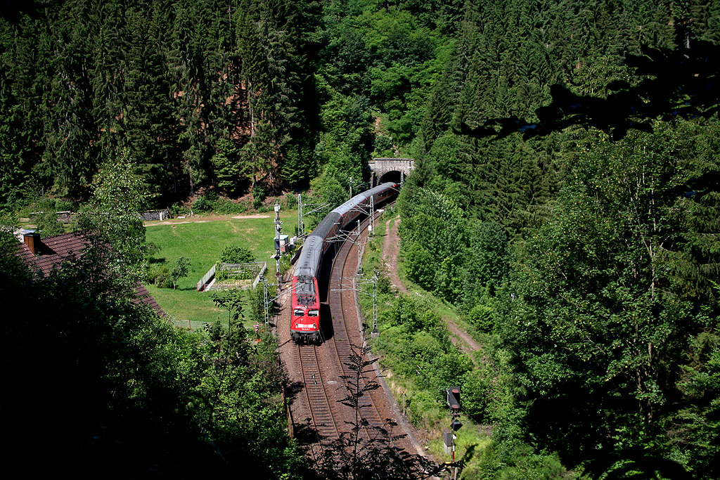
M 482 378 L 458 379 L 477 380 L 470 412 L 492 425 L 463 478 L 720 478 L 719 0 L 9 1 L 0 45 L 3 222 L 104 211 L 97 192 L 119 163 L 142 211 L 301 191 L 339 204 L 373 157 L 414 158 L 402 268 L 486 350 Z M 82 352 L 63 358 L 93 407 L 58 407 L 86 415 L 69 448 L 114 461 L 113 441 L 136 454 L 128 439 L 148 429 L 218 471 L 250 458 L 275 462 L 268 478 L 301 474 L 274 406 L 253 397 L 279 374 L 264 370 L 271 353 L 236 358 L 232 381 L 257 390 L 213 389 L 245 334 L 188 338 L 113 279 L 68 289 L 84 263 L 42 282 L 9 258 L 2 270 L 2 294 L 81 313 L 66 329 L 4 327 L 6 365 L 19 346 Z M 67 388 L 42 358 L 27 361 L 40 383 L 12 376 L 33 402 L 3 397 L 23 442 L 53 415 L 23 430 L 8 409 L 40 408 L 42 381 Z M 266 417 L 243 416 L 258 405 Z M 266 428 L 261 450 L 243 450 Z M 181 460 L 136 458 L 156 474 Z

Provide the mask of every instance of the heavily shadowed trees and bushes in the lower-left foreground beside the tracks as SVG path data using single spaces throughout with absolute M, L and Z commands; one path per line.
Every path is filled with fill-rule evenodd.
M 229 327 L 188 334 L 132 302 L 105 268 L 107 250 L 38 278 L 14 257 L 12 238 L 1 240 L 12 318 L 2 358 L 12 368 L 0 422 L 14 476 L 300 478 L 276 345 L 248 340 L 233 296 L 217 299 Z

